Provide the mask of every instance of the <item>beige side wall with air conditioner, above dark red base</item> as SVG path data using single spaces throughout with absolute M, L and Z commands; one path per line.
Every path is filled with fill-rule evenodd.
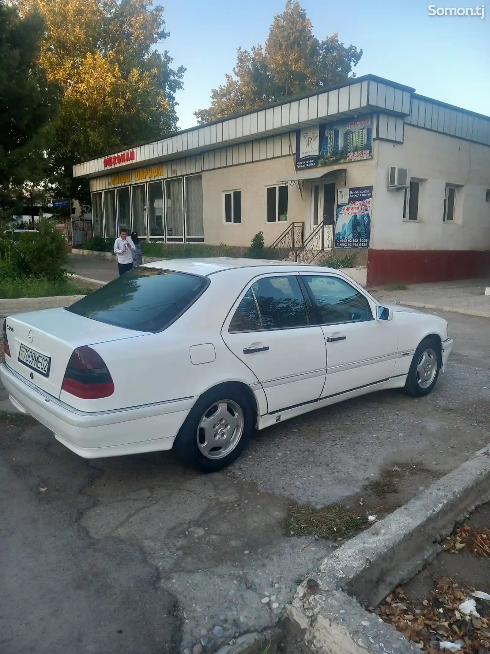
M 402 145 L 376 141 L 371 245 L 377 250 L 490 249 L 490 147 L 405 125 Z M 417 222 L 403 220 L 404 192 L 387 190 L 390 166 L 420 181 Z M 446 184 L 457 190 L 455 220 L 444 222 Z

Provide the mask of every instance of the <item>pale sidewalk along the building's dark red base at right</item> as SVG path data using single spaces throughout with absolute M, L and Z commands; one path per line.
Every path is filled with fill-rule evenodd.
M 485 295 L 488 279 L 461 279 L 453 282 L 411 284 L 408 290 L 369 288 L 369 292 L 389 305 L 393 301 L 409 307 L 453 311 L 490 318 L 490 296 Z

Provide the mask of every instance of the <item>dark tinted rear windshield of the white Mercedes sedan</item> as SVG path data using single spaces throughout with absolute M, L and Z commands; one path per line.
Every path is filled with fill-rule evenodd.
M 208 282 L 206 277 L 188 273 L 138 267 L 67 311 L 138 332 L 159 332 L 188 309 Z

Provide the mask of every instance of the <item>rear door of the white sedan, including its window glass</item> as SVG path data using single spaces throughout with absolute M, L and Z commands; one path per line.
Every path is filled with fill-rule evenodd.
M 325 339 L 310 317 L 297 275 L 250 284 L 223 325 L 227 347 L 253 371 L 269 413 L 318 400 L 325 383 Z

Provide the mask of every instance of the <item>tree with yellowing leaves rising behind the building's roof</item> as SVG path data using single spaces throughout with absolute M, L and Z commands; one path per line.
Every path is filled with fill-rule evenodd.
M 265 46 L 237 50 L 233 75 L 211 92 L 211 106 L 196 111 L 199 123 L 255 109 L 354 77 L 362 50 L 344 46 L 338 34 L 319 41 L 297 0 L 287 0 L 283 14 L 274 17 Z

